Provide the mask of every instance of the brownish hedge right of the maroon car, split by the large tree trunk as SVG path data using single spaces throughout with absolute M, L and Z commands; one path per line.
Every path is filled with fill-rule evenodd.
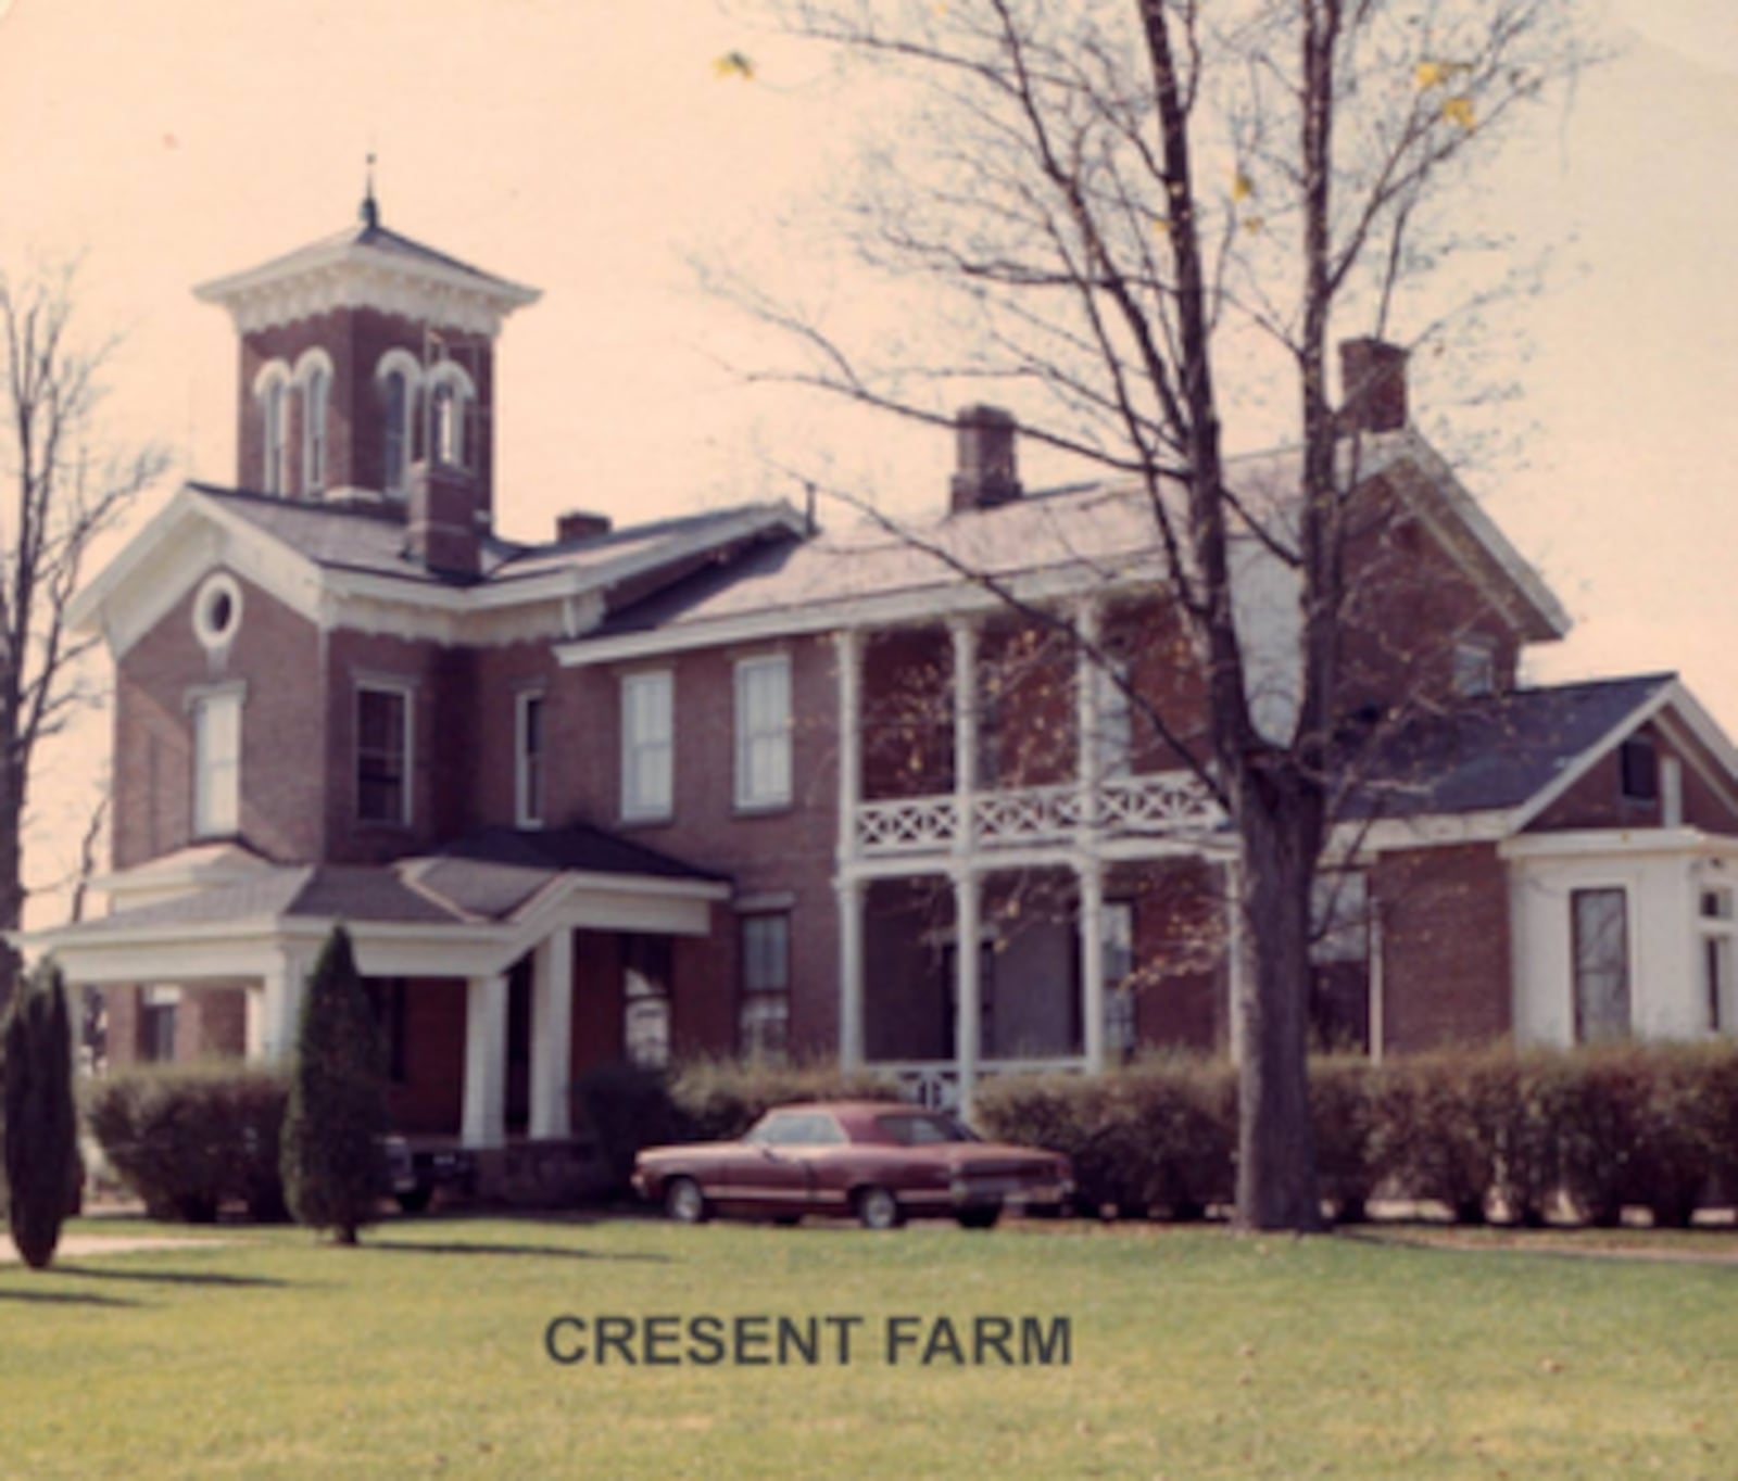
M 1688 1224 L 1738 1192 L 1738 1048 L 1453 1050 L 1310 1071 L 1323 1194 L 1437 1201 L 1460 1222 Z M 989 1081 L 978 1119 L 1074 1159 L 1081 1201 L 1194 1217 L 1236 1175 L 1236 1079 L 1222 1060 L 1152 1059 L 1095 1078 Z

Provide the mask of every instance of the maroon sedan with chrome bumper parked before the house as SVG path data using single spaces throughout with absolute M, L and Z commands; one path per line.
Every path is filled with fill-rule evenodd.
M 951 1215 L 989 1229 L 1005 1205 L 1060 1210 L 1074 1177 L 1058 1152 L 978 1140 L 952 1116 L 839 1100 L 780 1106 L 740 1142 L 647 1147 L 634 1191 L 683 1224 L 714 1212 L 780 1224 L 822 1213 L 892 1229 L 907 1215 Z

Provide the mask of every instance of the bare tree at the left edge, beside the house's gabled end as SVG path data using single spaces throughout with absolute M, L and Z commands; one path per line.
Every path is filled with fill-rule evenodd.
M 80 661 L 96 643 L 66 626 L 92 542 L 169 468 L 156 447 L 113 450 L 103 436 L 103 375 L 116 341 L 82 342 L 75 271 L 0 276 L 3 431 L 0 468 L 0 932 L 24 914 L 23 834 L 31 765 L 87 697 Z M 17 954 L 0 956 L 0 1003 Z

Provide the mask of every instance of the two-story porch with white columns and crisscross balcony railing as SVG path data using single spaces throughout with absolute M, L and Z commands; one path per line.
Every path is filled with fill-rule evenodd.
M 834 634 L 846 1064 L 968 1104 L 987 1074 L 1224 1041 L 1236 847 L 1182 737 L 1131 713 L 1175 685 L 1140 615 Z

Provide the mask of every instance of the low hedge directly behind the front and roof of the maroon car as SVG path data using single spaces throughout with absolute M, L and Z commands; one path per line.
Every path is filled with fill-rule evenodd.
M 574 1083 L 575 1130 L 591 1132 L 619 1191 L 627 1187 L 641 1147 L 740 1137 L 773 1106 L 796 1100 L 897 1099 L 899 1090 L 885 1079 L 826 1060 L 697 1059 L 669 1073 L 600 1066 Z

